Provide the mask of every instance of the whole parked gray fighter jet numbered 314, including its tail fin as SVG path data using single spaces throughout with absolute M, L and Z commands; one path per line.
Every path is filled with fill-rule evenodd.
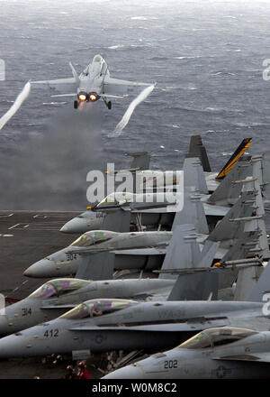
M 191 225 L 179 226 L 175 230 L 162 269 L 165 270 L 168 265 L 170 269 L 179 267 L 179 249 L 183 267 L 196 268 L 199 263 L 201 266 L 211 264 L 213 250 L 209 250 L 203 258 L 193 254 L 195 251 L 193 245 L 196 244 L 195 240 L 192 239 L 193 236 L 194 228 Z M 177 247 L 177 250 L 175 250 L 175 247 Z M 216 247 L 217 244 L 215 244 L 214 250 Z M 106 258 L 108 259 L 107 253 Z M 101 276 L 99 281 L 93 281 L 94 266 L 87 263 L 85 270 L 80 269 L 80 272 L 84 278 L 89 275 L 91 281 L 78 278 L 51 280 L 41 285 L 38 290 L 33 291 L 24 300 L 6 307 L 4 315 L 0 316 L 0 336 L 30 328 L 41 321 L 56 319 L 84 300 L 98 298 L 160 300 L 161 297 L 166 300 L 170 296 L 175 284 L 175 276 L 172 274 L 166 274 L 166 276 L 160 274 L 158 279 L 112 280 L 113 264 L 112 269 L 110 269 L 111 263 L 106 258 L 102 257 L 101 260 L 100 258 L 94 258 L 94 266 L 98 268 Z M 107 280 L 103 279 L 106 275 L 103 271 L 103 263 L 108 268 L 106 274 L 110 275 Z

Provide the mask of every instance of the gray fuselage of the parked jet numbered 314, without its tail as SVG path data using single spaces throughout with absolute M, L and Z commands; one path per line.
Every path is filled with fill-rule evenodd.
M 125 279 L 85 281 L 56 279 L 46 282 L 29 297 L 4 309 L 0 315 L 0 337 L 56 319 L 85 300 L 98 298 L 155 299 L 156 294 L 168 295 L 175 280 Z M 60 288 L 55 288 L 60 287 Z

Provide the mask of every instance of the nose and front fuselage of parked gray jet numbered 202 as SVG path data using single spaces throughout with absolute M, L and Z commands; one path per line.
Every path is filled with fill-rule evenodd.
M 224 327 L 205 329 L 103 379 L 269 379 L 269 369 L 269 331 Z

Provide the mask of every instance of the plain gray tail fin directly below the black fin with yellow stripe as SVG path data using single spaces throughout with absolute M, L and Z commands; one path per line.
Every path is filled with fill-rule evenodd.
M 251 156 L 242 157 L 238 160 L 236 166 L 229 172 L 224 180 L 220 181 L 220 185 L 211 194 L 207 202 L 218 205 L 233 205 L 238 200 L 243 183 L 250 171 Z

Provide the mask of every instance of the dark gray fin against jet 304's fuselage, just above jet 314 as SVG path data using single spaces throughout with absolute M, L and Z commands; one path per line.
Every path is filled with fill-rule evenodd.
M 112 280 L 115 254 L 110 252 L 82 254 L 76 278 L 82 280 Z

